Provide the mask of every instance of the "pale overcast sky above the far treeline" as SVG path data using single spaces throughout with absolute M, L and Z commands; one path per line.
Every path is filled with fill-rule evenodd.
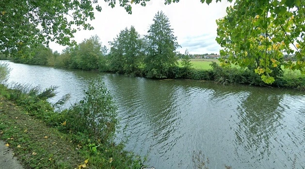
M 132 6 L 132 14 L 127 14 L 124 8 L 116 5 L 113 9 L 104 1 L 99 2 L 102 12 L 95 12 L 96 19 L 90 23 L 94 30 L 81 30 L 75 34 L 76 42 L 98 35 L 103 45 L 110 49 L 109 43 L 124 28 L 133 25 L 141 35 L 145 35 L 153 17 L 158 11 L 163 11 L 170 20 L 171 28 L 181 45 L 177 51 L 184 54 L 185 49 L 190 54 L 219 54 L 220 46 L 215 41 L 217 36 L 216 19 L 225 16 L 225 9 L 230 6 L 227 0 L 207 5 L 200 0 L 180 0 L 178 3 L 164 5 L 164 0 L 151 0 L 146 7 L 140 4 Z M 233 4 L 232 4 L 233 5 Z M 64 46 L 54 42 L 50 48 L 62 52 Z

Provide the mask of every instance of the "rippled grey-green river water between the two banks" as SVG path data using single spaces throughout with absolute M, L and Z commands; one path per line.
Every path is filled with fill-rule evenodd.
M 156 169 L 304 169 L 305 92 L 151 80 L 8 62 L 8 82 L 59 86 L 51 102 L 70 93 L 69 105 L 102 77 L 128 124 L 126 149 Z

